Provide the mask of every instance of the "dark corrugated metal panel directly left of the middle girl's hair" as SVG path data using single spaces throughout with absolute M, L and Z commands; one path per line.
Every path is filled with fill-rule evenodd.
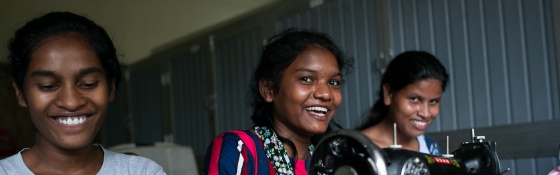
M 252 126 L 246 95 L 262 45 L 258 30 L 216 41 L 216 133 Z

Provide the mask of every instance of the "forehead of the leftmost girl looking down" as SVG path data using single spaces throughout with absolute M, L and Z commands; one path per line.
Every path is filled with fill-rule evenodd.
M 77 34 L 64 34 L 44 39 L 30 56 L 27 72 L 47 70 L 65 72 L 102 65 L 84 39 Z

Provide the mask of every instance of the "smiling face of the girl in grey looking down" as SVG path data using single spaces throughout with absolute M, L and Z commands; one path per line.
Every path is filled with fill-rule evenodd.
M 40 134 L 37 145 L 58 149 L 90 145 L 114 99 L 99 59 L 75 33 L 39 45 L 23 86 L 24 92 L 15 88 L 18 103 L 29 109 Z

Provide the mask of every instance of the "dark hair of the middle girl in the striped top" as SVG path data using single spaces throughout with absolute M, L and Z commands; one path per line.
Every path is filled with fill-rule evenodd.
M 272 90 L 278 92 L 284 70 L 298 55 L 314 45 L 329 50 L 336 58 L 342 77 L 346 75 L 353 60 L 346 58 L 342 50 L 334 44 L 328 35 L 290 28 L 272 36 L 263 47 L 262 56 L 251 79 L 249 99 L 253 107 L 251 120 L 255 125 L 271 126 L 273 112 L 272 104 L 267 103 L 260 95 L 259 81 L 267 80 L 271 82 Z

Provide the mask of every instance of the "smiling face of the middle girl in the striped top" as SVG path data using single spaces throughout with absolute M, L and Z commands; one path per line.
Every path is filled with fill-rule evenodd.
M 326 131 L 342 101 L 341 81 L 334 55 L 313 45 L 284 70 L 278 92 L 261 81 L 261 95 L 273 104 L 277 130 L 310 137 Z

